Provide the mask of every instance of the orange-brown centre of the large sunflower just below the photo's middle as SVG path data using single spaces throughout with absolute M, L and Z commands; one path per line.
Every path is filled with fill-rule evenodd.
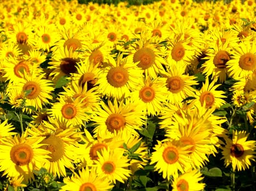
M 124 118 L 121 114 L 111 114 L 107 117 L 106 126 L 107 129 L 113 133 L 114 130 L 118 131 L 121 128 L 124 128 L 126 125 L 126 118 Z

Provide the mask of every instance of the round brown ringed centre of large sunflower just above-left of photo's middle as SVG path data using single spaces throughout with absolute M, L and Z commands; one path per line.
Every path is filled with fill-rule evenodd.
M 126 85 L 129 79 L 128 71 L 122 67 L 114 67 L 107 73 L 107 81 L 113 87 L 122 87 Z

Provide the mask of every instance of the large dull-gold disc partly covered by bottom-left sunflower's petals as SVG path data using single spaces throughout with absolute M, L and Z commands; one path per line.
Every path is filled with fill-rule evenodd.
M 49 154 L 51 158 L 48 159 L 50 162 L 55 162 L 64 155 L 64 143 L 58 136 L 50 135 L 41 144 L 45 144 L 41 148 L 51 152 Z

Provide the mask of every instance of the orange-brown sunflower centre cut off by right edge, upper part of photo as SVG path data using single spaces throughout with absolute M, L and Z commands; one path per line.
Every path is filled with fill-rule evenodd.
M 239 59 L 239 66 L 244 70 L 254 70 L 256 68 L 256 56 L 251 53 L 245 53 Z

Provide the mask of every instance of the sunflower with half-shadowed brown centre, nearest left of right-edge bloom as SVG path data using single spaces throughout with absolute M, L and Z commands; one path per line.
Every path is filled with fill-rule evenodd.
M 206 50 L 206 62 L 202 64 L 202 73 L 223 83 L 227 77 L 227 62 L 230 60 L 231 49 L 228 41 L 224 44 L 210 43 Z

